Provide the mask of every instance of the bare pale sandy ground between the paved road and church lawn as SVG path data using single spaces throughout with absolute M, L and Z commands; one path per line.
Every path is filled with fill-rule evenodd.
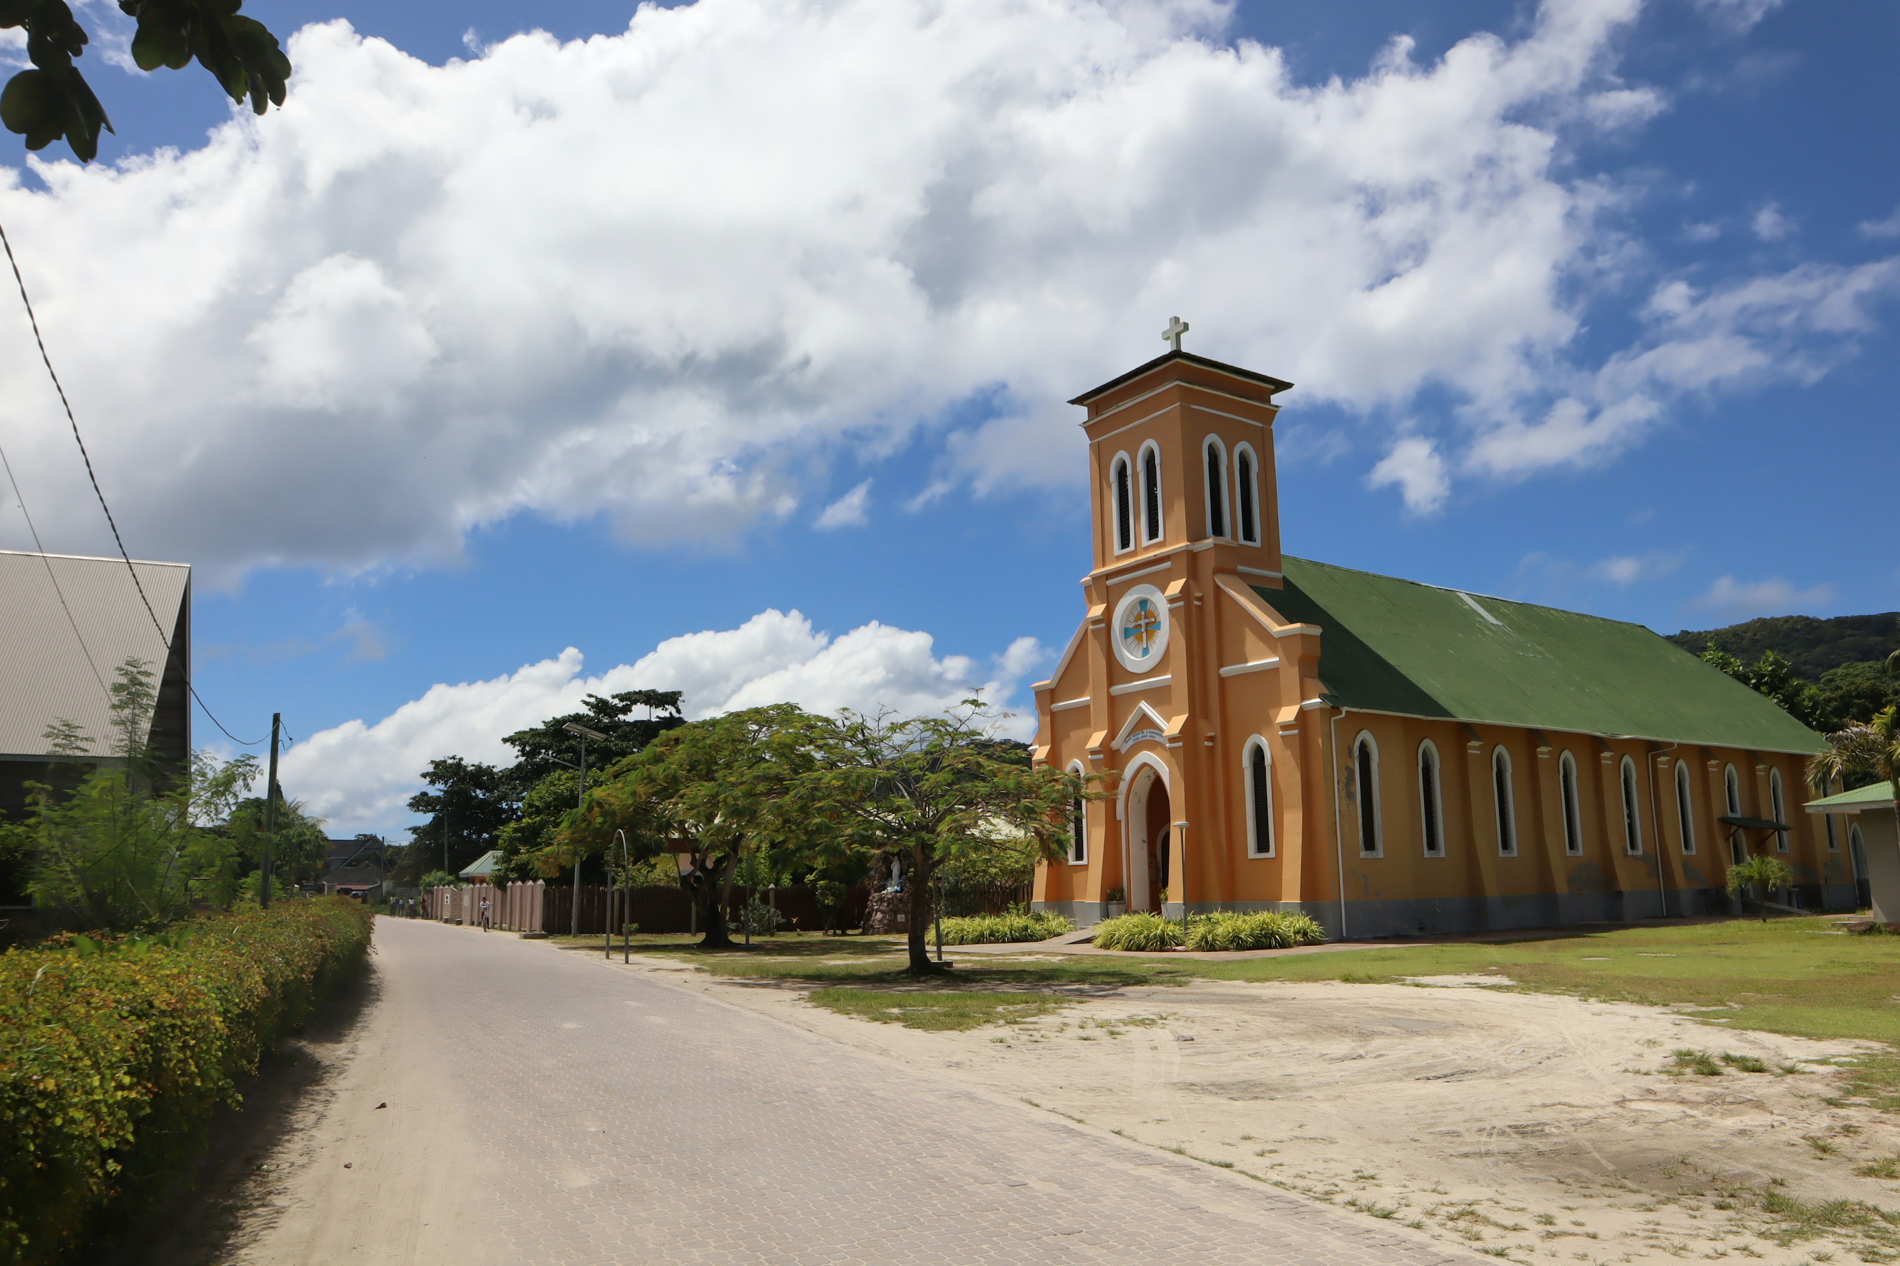
M 1778 1243 L 1790 1222 L 1759 1198 L 1900 1209 L 1900 1182 L 1854 1175 L 1900 1152 L 1900 1122 L 1824 1103 L 1839 1074 L 1820 1061 L 1854 1042 L 1457 977 L 1077 989 L 1036 1021 L 922 1033 L 777 983 L 631 970 L 1499 1257 L 1900 1257 L 1890 1224 Z M 1678 1048 L 1811 1071 L 1672 1076 Z

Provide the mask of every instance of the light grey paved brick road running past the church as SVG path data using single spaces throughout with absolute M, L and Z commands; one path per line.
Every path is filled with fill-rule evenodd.
M 1482 1260 L 598 959 L 393 919 L 376 941 L 369 1025 L 426 1052 L 483 1154 L 481 1215 L 420 1232 L 431 1258 Z

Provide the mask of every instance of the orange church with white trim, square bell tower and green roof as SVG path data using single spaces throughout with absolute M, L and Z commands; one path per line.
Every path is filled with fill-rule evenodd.
M 1824 740 L 1640 624 L 1281 554 L 1275 397 L 1174 349 L 1087 408 L 1087 613 L 1036 761 L 1110 774 L 1037 909 L 1302 909 L 1364 940 L 1725 913 L 1748 852 L 1852 907 Z

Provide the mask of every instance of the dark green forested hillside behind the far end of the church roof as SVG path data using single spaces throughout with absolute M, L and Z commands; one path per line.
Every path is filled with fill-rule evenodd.
M 1670 642 L 1824 735 L 1900 704 L 1900 676 L 1887 670 L 1887 657 L 1900 649 L 1900 611 L 1826 621 L 1775 615 L 1727 628 L 1683 630 Z

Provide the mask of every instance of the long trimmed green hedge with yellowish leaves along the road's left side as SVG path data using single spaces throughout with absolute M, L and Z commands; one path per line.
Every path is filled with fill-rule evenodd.
M 0 1264 L 55 1262 L 163 1192 L 370 926 L 321 898 L 0 955 Z

